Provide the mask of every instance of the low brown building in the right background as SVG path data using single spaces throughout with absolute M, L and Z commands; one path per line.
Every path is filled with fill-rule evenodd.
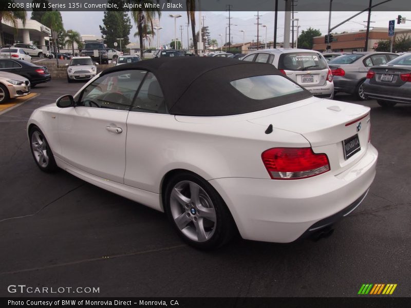
M 399 29 L 395 31 L 394 39 L 401 37 L 402 35 L 410 36 L 411 29 Z M 356 32 L 342 32 L 332 33 L 333 40 L 330 42 L 332 51 L 334 52 L 351 52 L 351 51 L 364 51 L 365 49 L 365 36 L 366 30 L 360 30 Z M 315 36 L 313 38 L 313 50 L 326 51 L 327 43 L 324 42 L 324 35 Z M 387 28 L 372 28 L 368 35 L 368 51 L 373 51 L 372 48 L 377 46 L 377 42 L 381 40 L 390 40 L 388 36 Z

